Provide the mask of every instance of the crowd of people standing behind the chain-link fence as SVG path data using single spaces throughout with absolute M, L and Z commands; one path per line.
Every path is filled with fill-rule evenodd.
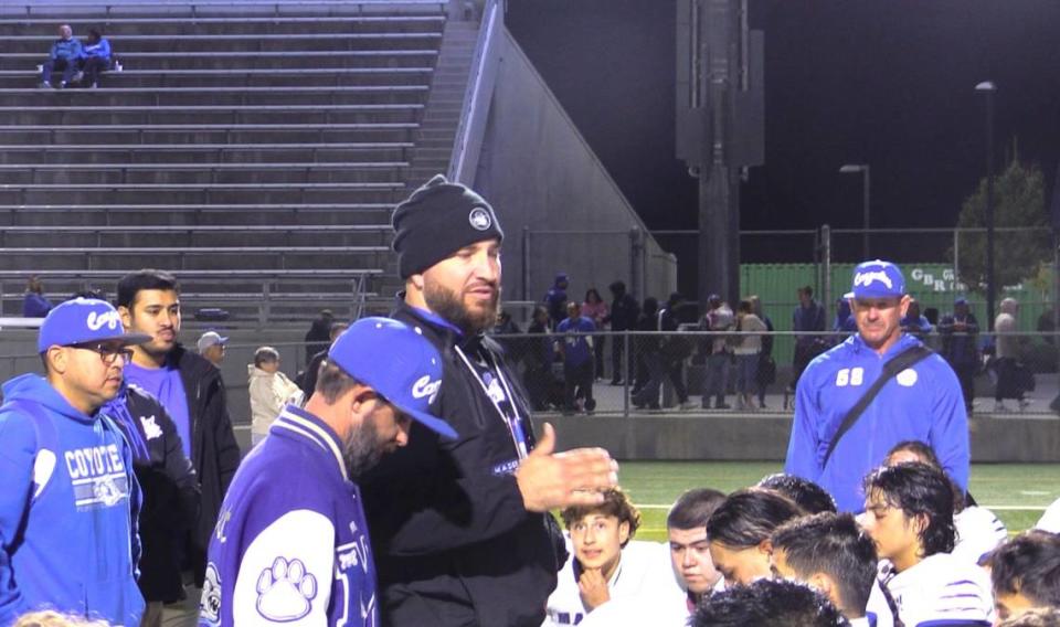
M 679 293 L 660 305 L 655 297 L 638 302 L 622 280 L 608 287 L 611 302 L 595 287 L 579 301 L 569 295 L 569 275 L 558 273 L 532 310 L 526 332 L 510 311 L 501 312 L 491 329 L 510 359 L 522 363 L 536 410 L 592 413 L 598 398 L 593 397 L 590 382 L 628 386 L 629 405 L 644 411 L 771 410 L 771 391 L 783 393 L 785 404 L 773 408 L 791 410 L 806 366 L 857 332 L 849 300 L 836 301 L 835 318 L 828 325 L 812 286 L 796 289 L 792 333 L 784 336 L 774 333 L 773 319 L 755 295 L 734 305 L 710 295 L 704 314 L 697 319 L 695 304 Z M 1025 340 L 1015 334 L 1018 307 L 1014 298 L 1000 302 L 990 341 L 983 340 L 984 329 L 965 297 L 957 297 L 953 309 L 942 316 L 935 308 L 922 310 L 911 299 L 901 329 L 945 358 L 957 374 L 969 413 L 975 408 L 975 380 L 983 374 L 994 383 L 995 412 L 1022 410 L 1029 404 L 1025 396 L 1034 390 L 1034 376 L 1020 359 Z M 699 333 L 683 334 L 687 331 Z M 632 333 L 627 337 L 627 332 Z M 793 354 L 786 385 L 773 389 L 780 371 L 774 350 L 778 337 L 793 343 Z M 700 392 L 698 404 L 689 400 L 689 390 Z

